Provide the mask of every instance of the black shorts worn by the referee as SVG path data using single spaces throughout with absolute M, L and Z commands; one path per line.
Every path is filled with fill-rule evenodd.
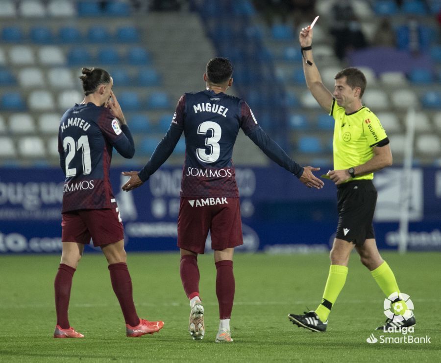
M 337 185 L 339 224 L 336 238 L 363 245 L 375 238 L 372 226 L 377 189 L 371 180 L 349 181 Z

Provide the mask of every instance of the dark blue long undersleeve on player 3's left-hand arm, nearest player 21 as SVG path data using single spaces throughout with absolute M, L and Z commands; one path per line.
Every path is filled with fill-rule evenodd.
M 167 134 L 156 146 L 155 151 L 151 155 L 150 160 L 148 160 L 146 166 L 141 169 L 138 173 L 139 179 L 141 181 L 147 181 L 158 168 L 169 158 L 172 154 L 179 138 L 182 135 L 182 129 L 170 126 Z

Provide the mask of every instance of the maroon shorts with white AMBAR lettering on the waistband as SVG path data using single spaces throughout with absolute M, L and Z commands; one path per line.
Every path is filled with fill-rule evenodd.
M 204 253 L 209 230 L 213 250 L 244 244 L 239 198 L 181 198 L 178 247 Z

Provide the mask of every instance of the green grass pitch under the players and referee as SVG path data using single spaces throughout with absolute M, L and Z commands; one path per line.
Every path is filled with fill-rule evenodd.
M 215 343 L 219 313 L 213 255 L 199 256 L 205 306 L 204 340 L 187 332 L 189 304 L 176 253 L 129 253 L 134 299 L 141 317 L 164 328 L 126 338 L 105 258 L 86 253 L 73 279 L 70 322 L 84 339 L 55 340 L 53 279 L 60 256 L 0 256 L 1 362 L 436 362 L 441 357 L 441 253 L 383 253 L 398 284 L 415 304 L 415 337 L 430 344 L 368 344 L 381 325 L 384 296 L 357 255 L 326 333 L 289 322 L 289 313 L 315 309 L 329 260 L 326 254 L 239 254 L 234 261 L 236 296 L 231 344 Z M 400 337 L 401 333 L 388 336 Z

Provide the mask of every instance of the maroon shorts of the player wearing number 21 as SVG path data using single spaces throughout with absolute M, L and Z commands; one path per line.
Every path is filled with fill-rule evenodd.
M 61 241 L 104 246 L 121 241 L 124 228 L 118 208 L 84 209 L 62 214 Z

